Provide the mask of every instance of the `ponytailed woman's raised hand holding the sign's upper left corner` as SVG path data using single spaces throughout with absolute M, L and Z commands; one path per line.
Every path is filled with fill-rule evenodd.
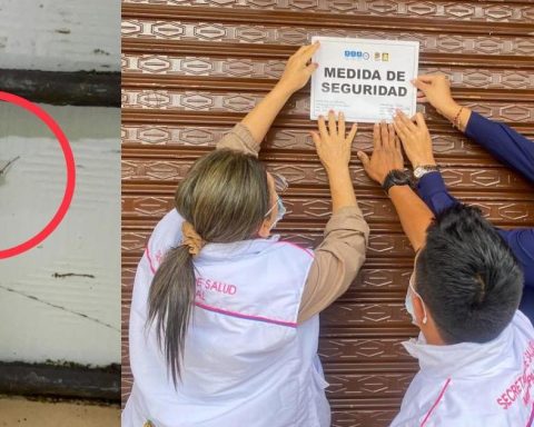
M 284 69 L 284 73 L 281 75 L 277 87 L 289 95 L 304 88 L 312 73 L 318 67 L 317 63 L 309 62 L 318 48 L 319 42 L 316 41 L 313 44 L 303 46 L 291 54 L 286 63 L 286 68 Z

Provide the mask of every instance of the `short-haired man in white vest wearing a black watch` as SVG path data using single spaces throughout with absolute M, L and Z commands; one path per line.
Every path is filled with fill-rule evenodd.
M 402 126 L 400 139 L 429 139 L 422 117 Z M 458 203 L 433 218 L 411 188 L 392 125 L 376 126 L 370 159 L 358 157 L 416 250 L 406 310 L 421 332 L 404 347 L 419 371 L 392 426 L 531 426 L 534 329 L 517 309 L 523 272 L 510 247 L 474 207 Z

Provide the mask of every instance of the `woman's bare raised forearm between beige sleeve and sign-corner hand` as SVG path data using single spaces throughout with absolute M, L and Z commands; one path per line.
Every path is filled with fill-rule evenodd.
M 291 95 L 290 90 L 278 83 L 245 116 L 241 123 L 248 128 L 256 141 L 261 142 L 264 140 L 276 116 Z

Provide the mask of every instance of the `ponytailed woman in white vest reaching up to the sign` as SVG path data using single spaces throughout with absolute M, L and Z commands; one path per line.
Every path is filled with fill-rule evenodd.
M 176 209 L 139 262 L 129 322 L 131 395 L 123 427 L 328 427 L 318 314 L 354 280 L 368 226 L 348 162 L 343 115 L 313 132 L 333 215 L 315 251 L 270 231 L 283 177 L 258 161 L 278 111 L 303 88 L 318 44 L 300 48 L 266 98 L 195 162 Z

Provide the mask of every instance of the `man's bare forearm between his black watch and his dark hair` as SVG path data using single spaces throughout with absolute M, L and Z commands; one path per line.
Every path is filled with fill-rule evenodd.
M 389 199 L 395 206 L 400 226 L 415 251 L 425 245 L 426 229 L 433 220 L 431 209 L 408 186 L 394 186 Z

